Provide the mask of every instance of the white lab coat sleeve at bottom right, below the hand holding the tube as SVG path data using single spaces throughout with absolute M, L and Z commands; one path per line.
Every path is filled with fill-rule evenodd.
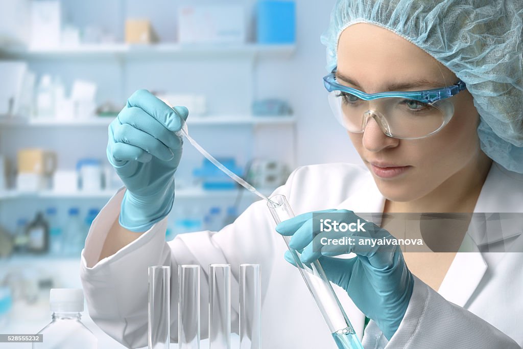
M 509 336 L 447 301 L 417 277 L 405 316 L 391 340 L 371 321 L 362 344 L 365 349 L 521 349 Z

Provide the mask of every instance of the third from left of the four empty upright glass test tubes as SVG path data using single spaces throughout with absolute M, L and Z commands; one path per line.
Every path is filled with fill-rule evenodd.
M 209 265 L 209 348 L 231 348 L 231 266 Z

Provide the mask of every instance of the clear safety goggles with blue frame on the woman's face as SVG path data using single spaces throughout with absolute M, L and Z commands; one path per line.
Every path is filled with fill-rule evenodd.
M 334 116 L 350 132 L 362 133 L 373 118 L 389 137 L 425 138 L 441 130 L 454 115 L 448 98 L 467 87 L 461 80 L 448 87 L 412 92 L 367 94 L 336 82 L 336 69 L 323 78 Z

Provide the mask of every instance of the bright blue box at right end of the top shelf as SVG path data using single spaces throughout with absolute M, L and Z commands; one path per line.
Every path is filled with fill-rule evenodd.
M 256 12 L 259 43 L 290 44 L 296 41 L 294 1 L 259 0 Z

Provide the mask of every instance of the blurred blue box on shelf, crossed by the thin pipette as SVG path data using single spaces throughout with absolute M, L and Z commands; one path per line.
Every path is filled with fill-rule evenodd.
M 242 168 L 236 166 L 236 161 L 232 157 L 217 158 L 225 167 L 229 168 L 238 176 L 242 175 Z M 202 181 L 202 188 L 205 190 L 232 190 L 237 184 L 228 175 L 221 172 L 209 160 L 203 159 L 202 166 L 195 168 L 192 174 Z

